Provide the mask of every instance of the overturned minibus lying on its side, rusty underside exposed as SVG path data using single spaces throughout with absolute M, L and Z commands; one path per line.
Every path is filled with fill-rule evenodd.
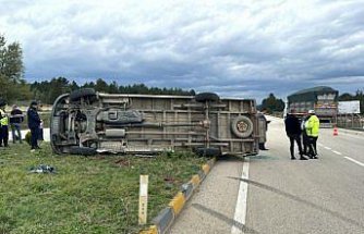
M 258 153 L 265 130 L 254 99 L 102 94 L 92 88 L 61 95 L 52 107 L 50 141 L 57 153 L 202 156 Z

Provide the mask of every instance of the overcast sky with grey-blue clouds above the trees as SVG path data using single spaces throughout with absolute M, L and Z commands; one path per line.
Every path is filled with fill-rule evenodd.
M 25 78 L 284 98 L 364 88 L 364 0 L 0 0 Z

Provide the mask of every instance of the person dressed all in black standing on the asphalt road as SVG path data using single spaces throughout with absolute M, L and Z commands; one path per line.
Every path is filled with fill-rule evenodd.
M 307 160 L 303 157 L 302 145 L 301 145 L 301 124 L 300 120 L 295 116 L 295 110 L 291 110 L 290 114 L 287 115 L 284 120 L 286 124 L 286 133 L 290 138 L 290 152 L 291 159 L 294 160 L 294 141 L 296 141 L 299 151 L 300 151 L 300 160 Z

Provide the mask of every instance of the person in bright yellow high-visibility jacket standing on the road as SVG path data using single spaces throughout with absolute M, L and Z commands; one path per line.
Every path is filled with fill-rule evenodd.
M 310 152 L 308 157 L 311 159 L 317 159 L 317 138 L 319 132 L 319 119 L 316 116 L 314 110 L 308 111 L 310 118 L 305 123 L 306 133 L 310 138 Z

